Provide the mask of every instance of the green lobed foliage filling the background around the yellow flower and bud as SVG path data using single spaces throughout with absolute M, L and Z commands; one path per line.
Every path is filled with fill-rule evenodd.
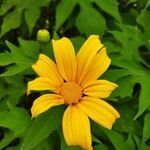
M 108 100 L 121 118 L 111 131 L 92 122 L 94 149 L 150 150 L 150 0 L 1 0 L 0 149 L 81 150 L 64 141 L 62 107 L 30 118 L 40 94 L 26 95 L 31 65 L 39 53 L 53 58 L 51 43 L 36 40 L 39 29 L 71 38 L 76 52 L 100 35 L 112 59 L 102 78 L 119 85 Z

